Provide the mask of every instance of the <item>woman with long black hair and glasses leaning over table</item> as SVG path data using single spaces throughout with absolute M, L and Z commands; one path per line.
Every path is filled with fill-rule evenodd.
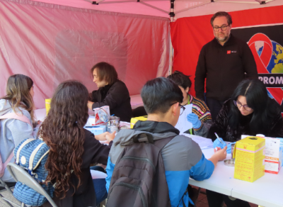
M 238 84 L 231 99 L 224 103 L 212 127 L 209 138 L 214 140 L 214 147 L 223 148 L 214 133 L 223 141 L 236 142 L 241 135 L 262 134 L 271 138 L 283 138 L 283 119 L 279 104 L 267 95 L 265 85 L 258 79 L 243 80 Z M 227 153 L 231 152 L 231 144 Z M 222 201 L 226 206 L 250 206 L 248 202 L 207 190 L 209 207 L 220 207 Z

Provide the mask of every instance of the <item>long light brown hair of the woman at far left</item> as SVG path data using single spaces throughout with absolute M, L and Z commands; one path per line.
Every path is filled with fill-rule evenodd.
M 35 122 L 33 96 L 30 89 L 33 87 L 33 80 L 23 74 L 14 74 L 8 78 L 6 86 L 6 96 L 1 99 L 9 101 L 13 111 L 16 108 L 21 111 L 20 107 L 25 108 L 30 113 L 30 117 Z M 21 111 L 22 112 L 22 111 Z M 22 112 L 23 113 L 23 112 Z

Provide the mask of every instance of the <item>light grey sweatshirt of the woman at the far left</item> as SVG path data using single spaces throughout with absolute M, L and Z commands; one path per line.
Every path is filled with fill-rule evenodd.
M 20 110 L 24 116 L 30 119 L 30 123 L 33 123 L 30 113 L 24 108 L 18 108 L 16 113 L 21 114 Z M 11 112 L 13 112 L 13 109 L 10 103 L 4 99 L 0 99 L 0 116 Z M 1 119 L 0 122 L 0 153 L 2 162 L 6 162 L 21 141 L 26 138 L 36 138 L 38 128 L 32 128 L 28 123 L 13 118 Z M 12 158 L 10 162 L 15 162 L 15 159 Z M 1 179 L 6 182 L 14 181 L 8 169 L 5 169 L 4 176 Z

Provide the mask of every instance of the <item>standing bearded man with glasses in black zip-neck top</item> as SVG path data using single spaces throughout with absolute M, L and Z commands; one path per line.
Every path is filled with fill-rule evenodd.
M 204 100 L 204 80 L 207 79 L 207 106 L 214 121 L 224 101 L 246 77 L 256 77 L 257 67 L 247 43 L 231 35 L 232 18 L 219 11 L 212 16 L 214 39 L 200 51 L 195 72 L 195 92 Z

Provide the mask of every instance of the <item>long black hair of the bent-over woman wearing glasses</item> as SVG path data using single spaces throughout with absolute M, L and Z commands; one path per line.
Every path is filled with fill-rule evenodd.
M 249 128 L 251 133 L 265 134 L 270 127 L 272 118 L 280 113 L 279 104 L 270 99 L 265 85 L 258 79 L 246 79 L 238 84 L 231 97 L 231 111 L 229 112 L 229 125 L 236 129 L 243 118 L 238 107 L 233 104 L 238 96 L 246 96 L 248 107 L 253 108 Z

